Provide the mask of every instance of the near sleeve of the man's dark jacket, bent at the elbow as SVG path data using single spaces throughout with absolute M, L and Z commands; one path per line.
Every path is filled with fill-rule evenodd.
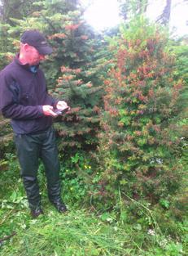
M 42 106 L 24 106 L 18 101 L 18 88 L 13 88 L 10 75 L 0 73 L 0 110 L 9 119 L 36 119 L 42 117 Z

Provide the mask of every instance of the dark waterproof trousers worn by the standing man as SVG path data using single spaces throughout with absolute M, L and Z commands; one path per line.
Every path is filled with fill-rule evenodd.
M 37 182 L 40 158 L 45 166 L 49 199 L 52 203 L 58 203 L 61 200 L 61 191 L 54 129 L 48 128 L 46 131 L 31 134 L 15 134 L 15 146 L 30 209 L 37 209 L 41 204 Z

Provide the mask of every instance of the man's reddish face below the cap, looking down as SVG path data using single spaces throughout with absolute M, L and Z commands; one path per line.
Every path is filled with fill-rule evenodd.
M 45 60 L 44 55 L 41 55 L 35 47 L 27 45 L 25 51 L 25 61 L 27 61 L 28 65 L 37 65 L 43 60 Z

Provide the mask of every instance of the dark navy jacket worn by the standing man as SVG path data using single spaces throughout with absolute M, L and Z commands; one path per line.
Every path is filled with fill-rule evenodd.
M 18 56 L 0 72 L 0 110 L 11 119 L 15 133 L 28 134 L 49 128 L 52 117 L 43 114 L 42 106 L 56 106 L 57 100 L 47 93 L 46 79 L 37 66 L 33 73 L 22 65 Z

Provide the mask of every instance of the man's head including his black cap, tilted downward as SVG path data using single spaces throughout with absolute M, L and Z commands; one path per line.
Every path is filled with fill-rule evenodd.
M 20 61 L 28 65 L 37 65 L 52 53 L 46 38 L 37 30 L 27 30 L 20 38 Z

